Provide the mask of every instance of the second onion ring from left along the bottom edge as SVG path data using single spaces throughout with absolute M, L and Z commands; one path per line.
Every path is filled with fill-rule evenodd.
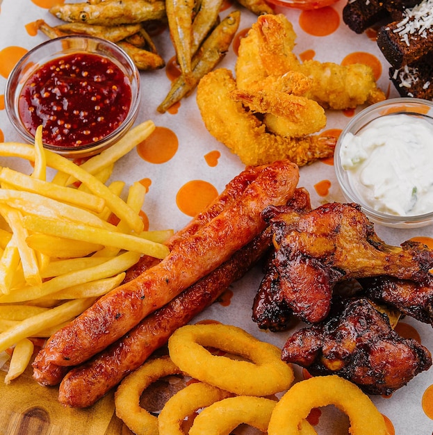
M 204 382 L 189 384 L 170 397 L 165 403 L 158 416 L 159 433 L 164 435 L 185 435 L 181 425 L 186 416 L 191 416 L 198 409 L 209 407 L 214 402 L 229 396 L 231 396 L 231 393 L 228 391 L 204 384 Z

